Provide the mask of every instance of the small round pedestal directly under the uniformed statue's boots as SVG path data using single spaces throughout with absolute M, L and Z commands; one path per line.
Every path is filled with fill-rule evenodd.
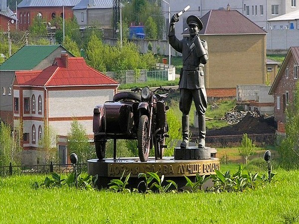
M 187 148 L 174 148 L 174 159 L 210 159 L 216 156 L 216 149 L 210 147 L 198 148 L 190 146 Z

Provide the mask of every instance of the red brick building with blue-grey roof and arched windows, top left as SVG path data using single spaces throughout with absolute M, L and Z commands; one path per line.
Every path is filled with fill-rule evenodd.
M 49 22 L 56 16 L 70 19 L 73 17 L 73 10 L 80 0 L 22 0 L 17 5 L 18 29 L 27 30 L 33 19 L 38 16 L 45 22 Z

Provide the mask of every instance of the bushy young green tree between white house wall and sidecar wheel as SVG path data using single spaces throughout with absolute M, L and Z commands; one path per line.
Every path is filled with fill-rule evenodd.
M 68 133 L 68 150 L 70 153 L 76 153 L 78 160 L 81 163 L 86 163 L 87 159 L 91 158 L 93 153 L 86 130 L 78 120 L 73 120 L 71 123 L 71 130 Z

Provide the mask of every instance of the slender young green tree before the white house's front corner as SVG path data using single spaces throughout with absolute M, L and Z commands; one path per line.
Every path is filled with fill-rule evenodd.
M 51 126 L 44 121 L 44 133 L 38 142 L 38 149 L 45 153 L 45 163 L 56 160 L 56 136 Z

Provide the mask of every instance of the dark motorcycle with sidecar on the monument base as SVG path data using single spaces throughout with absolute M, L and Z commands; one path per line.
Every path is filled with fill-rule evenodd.
M 168 137 L 166 111 L 169 107 L 165 100 L 169 90 L 159 87 L 151 91 L 149 87 L 144 87 L 131 91 L 118 93 L 113 101 L 94 108 L 94 142 L 100 160 L 105 158 L 108 139 L 114 139 L 114 159 L 117 139 L 137 139 L 142 162 L 148 160 L 152 147 L 155 159 L 162 159 L 165 139 Z M 158 91 L 164 94 L 158 94 Z

